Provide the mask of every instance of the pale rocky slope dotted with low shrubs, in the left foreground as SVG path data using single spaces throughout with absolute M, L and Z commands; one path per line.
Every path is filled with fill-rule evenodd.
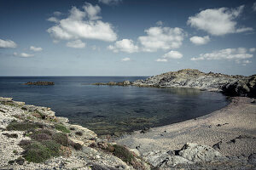
M 150 169 L 131 150 L 56 117 L 49 108 L 0 97 L 0 169 Z

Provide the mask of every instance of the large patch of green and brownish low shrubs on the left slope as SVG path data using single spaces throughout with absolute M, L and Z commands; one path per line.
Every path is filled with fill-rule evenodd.
M 68 139 L 70 131 L 62 124 L 49 127 L 38 122 L 10 122 L 7 130 L 26 131 L 24 135 L 31 140 L 21 140 L 20 147 L 24 149 L 22 156 L 26 161 L 42 162 L 53 156 L 70 156 L 73 147 L 82 150 L 82 145 Z M 56 130 L 61 131 L 57 133 Z

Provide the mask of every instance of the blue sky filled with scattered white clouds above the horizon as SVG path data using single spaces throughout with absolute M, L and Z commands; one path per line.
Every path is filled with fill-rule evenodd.
M 0 76 L 249 76 L 255 30 L 255 0 L 0 0 Z

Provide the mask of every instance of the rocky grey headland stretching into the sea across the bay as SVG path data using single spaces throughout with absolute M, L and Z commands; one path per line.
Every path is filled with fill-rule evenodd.
M 194 69 L 170 71 L 146 80 L 135 82 L 96 82 L 94 85 L 138 86 L 155 88 L 201 88 L 202 90 L 219 91 L 229 96 L 256 96 L 256 75 L 249 77 L 230 76 L 221 73 L 205 73 Z

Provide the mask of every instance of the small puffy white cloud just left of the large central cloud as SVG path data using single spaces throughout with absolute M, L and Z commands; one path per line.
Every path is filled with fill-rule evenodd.
M 138 51 L 137 45 L 134 45 L 131 39 L 123 39 L 121 41 L 117 41 L 114 43 L 114 45 L 108 46 L 108 49 L 113 50 L 114 53 L 118 53 L 119 51 L 135 53 Z

